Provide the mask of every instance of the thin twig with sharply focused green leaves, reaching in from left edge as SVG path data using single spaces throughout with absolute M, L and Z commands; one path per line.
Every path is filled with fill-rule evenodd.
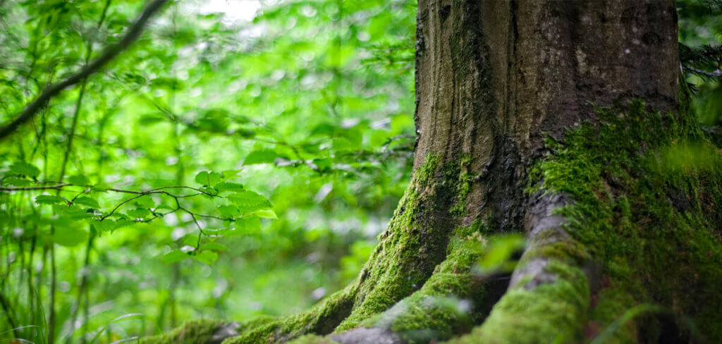
M 201 226 L 199 222 L 201 218 L 228 223 L 238 222 L 240 220 L 258 220 L 258 218 L 261 217 L 276 218 L 275 213 L 271 210 L 271 203 L 263 195 L 251 190 L 245 190 L 243 185 L 238 183 L 222 181 L 225 178 L 217 172 L 204 171 L 196 175 L 196 182 L 203 185 L 201 188 L 187 185 L 165 185 L 148 190 L 128 190 L 123 188 L 105 188 L 102 185 L 88 185 L 87 179 L 84 177 L 71 177 L 71 182 L 39 181 L 36 180 L 36 177 L 38 177 L 40 173 L 39 169 L 32 164 L 24 162 L 12 164 L 9 172 L 9 175 L 4 177 L 4 181 L 9 181 L 14 185 L 21 184 L 22 186 L 1 186 L 0 193 L 56 190 L 56 195 L 38 195 L 35 197 L 35 203 L 40 206 L 53 206 L 53 210 L 56 211 L 56 213 L 60 213 L 61 215 L 65 213 L 65 215 L 74 219 L 92 219 L 92 222 L 95 223 L 95 226 L 98 226 L 98 229 L 113 230 L 118 228 L 118 225 L 125 226 L 132 222 L 149 223 L 178 211 L 186 213 L 191 217 L 193 224 L 195 224 L 199 230 L 199 239 L 195 244 L 194 251 L 201 250 L 202 237 L 217 237 L 216 234 L 225 234 L 228 231 L 232 231 L 232 229 L 228 229 L 228 231 L 219 230 L 214 231 L 214 234 L 209 234 L 209 232 Z M 32 181 L 30 179 L 32 179 Z M 30 183 L 34 183 L 35 185 L 27 185 Z M 78 192 L 77 188 L 81 188 L 81 190 Z M 191 191 L 191 193 L 174 192 L 174 190 Z M 74 196 L 72 198 L 65 198 L 60 195 L 61 192 L 74 192 Z M 84 196 L 92 192 L 112 192 L 131 196 L 120 200 L 118 203 L 114 203 L 109 211 L 102 212 L 98 211 L 100 204 L 97 203 L 97 200 Z M 222 193 L 224 195 L 222 195 Z M 172 198 L 175 204 L 174 206 L 164 206 L 156 205 L 152 200 L 150 204 L 147 203 L 147 201 L 142 202 L 139 200 L 149 195 L 162 195 Z M 193 198 L 197 196 L 224 198 L 225 204 L 217 207 L 220 216 L 191 211 L 190 208 L 183 206 L 181 203 L 183 198 Z M 134 201 L 140 208 L 118 214 L 121 207 Z M 111 216 L 119 216 L 121 219 L 118 221 L 110 221 L 110 224 L 100 226 L 100 223 L 109 220 Z M 244 223 L 243 226 L 245 229 L 247 224 Z M 258 228 L 258 226 L 260 226 L 260 222 L 256 221 L 253 227 Z M 204 261 L 204 263 L 207 262 Z

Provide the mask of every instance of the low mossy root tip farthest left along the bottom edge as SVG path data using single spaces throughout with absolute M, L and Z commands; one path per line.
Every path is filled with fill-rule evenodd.
M 196 319 L 185 322 L 168 334 L 142 338 L 142 344 L 219 344 L 225 338 L 238 335 L 242 330 L 235 322 L 221 322 L 212 319 Z

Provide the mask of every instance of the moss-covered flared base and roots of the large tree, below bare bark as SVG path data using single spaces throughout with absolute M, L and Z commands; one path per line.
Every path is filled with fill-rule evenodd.
M 722 155 L 686 111 L 635 101 L 598 115 L 529 167 L 511 277 L 475 268 L 494 254 L 484 219 L 430 221 L 474 182 L 463 162 L 430 156 L 357 283 L 224 343 L 721 343 Z M 216 343 L 218 329 L 193 322 L 143 343 Z

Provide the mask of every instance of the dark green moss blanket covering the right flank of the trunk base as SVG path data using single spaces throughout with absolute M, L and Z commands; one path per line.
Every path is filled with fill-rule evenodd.
M 588 339 L 624 309 L 658 304 L 676 314 L 678 335 L 720 343 L 722 155 L 687 111 L 663 115 L 641 101 L 597 111 L 596 125 L 547 142 L 552 154 L 531 167 L 527 189 L 573 200 L 557 213 L 603 267 Z M 653 314 L 632 322 L 615 343 L 656 343 L 665 330 Z

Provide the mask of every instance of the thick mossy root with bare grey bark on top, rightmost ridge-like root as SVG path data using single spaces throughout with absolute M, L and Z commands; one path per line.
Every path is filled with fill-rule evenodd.
M 510 288 L 484 324 L 453 343 L 578 343 L 590 303 L 593 264 L 554 215 L 562 196 L 537 197 L 526 219 L 527 247 Z

